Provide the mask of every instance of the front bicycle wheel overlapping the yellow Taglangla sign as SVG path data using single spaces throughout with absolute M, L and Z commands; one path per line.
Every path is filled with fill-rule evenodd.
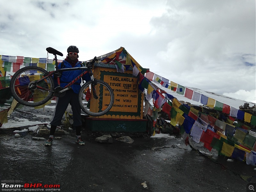
M 95 91 L 99 98 L 94 98 L 92 93 L 93 81 L 89 81 L 82 85 L 78 93 L 79 103 L 82 110 L 87 115 L 102 116 L 112 108 L 114 103 L 114 92 L 106 82 L 101 80 L 95 81 L 97 83 Z

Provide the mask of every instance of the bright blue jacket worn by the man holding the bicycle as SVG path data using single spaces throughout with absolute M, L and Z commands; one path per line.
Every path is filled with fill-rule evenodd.
M 72 68 L 71 64 L 68 63 L 68 61 L 64 60 L 64 65 L 61 66 L 61 63 L 58 64 L 58 68 Z M 76 67 L 82 67 L 83 64 L 81 61 L 78 61 L 74 68 Z M 67 84 L 69 84 L 72 80 L 74 80 L 77 76 L 79 76 L 82 72 L 84 72 L 84 69 L 80 70 L 74 70 L 74 71 L 63 71 L 62 75 L 60 76 L 60 86 L 65 87 Z M 89 73 L 88 73 L 89 75 Z M 87 74 L 86 74 L 87 76 Z M 84 79 L 84 77 L 83 77 Z M 86 79 L 87 80 L 87 79 Z M 81 88 L 81 78 L 78 79 L 73 85 L 71 85 L 71 88 L 75 93 L 78 93 Z

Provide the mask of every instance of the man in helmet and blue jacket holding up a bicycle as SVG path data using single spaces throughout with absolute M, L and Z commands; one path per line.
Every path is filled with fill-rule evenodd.
M 76 46 L 69 46 L 67 49 L 68 55 L 62 63 L 59 63 L 58 68 L 76 68 L 81 67 L 82 62 L 78 61 L 78 53 L 79 50 Z M 60 86 L 65 87 L 68 83 L 70 83 L 73 79 L 75 79 L 78 75 L 82 73 L 81 70 L 74 71 L 63 71 L 61 74 L 54 74 L 56 76 L 60 76 Z M 76 128 L 76 143 L 79 145 L 84 145 L 84 141 L 81 138 L 81 130 L 82 130 L 82 120 L 81 120 L 81 107 L 79 105 L 78 100 L 78 92 L 81 88 L 81 79 L 76 81 L 75 84 L 71 85 L 70 90 L 65 92 L 65 96 L 57 98 L 56 107 L 53 113 L 53 118 L 50 130 L 50 136 L 48 140 L 44 143 L 44 145 L 52 145 L 53 135 L 56 131 L 57 126 L 61 124 L 62 117 L 70 103 L 71 109 L 73 112 L 73 126 Z

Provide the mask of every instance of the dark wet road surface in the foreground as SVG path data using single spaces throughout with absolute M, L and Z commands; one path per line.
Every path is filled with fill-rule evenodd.
M 219 163 L 213 162 L 182 140 L 132 138 L 132 144 L 117 140 L 102 144 L 93 137 L 84 139 L 85 146 L 79 146 L 69 134 L 45 147 L 43 140 L 33 140 L 30 134 L 0 135 L 1 183 L 59 184 L 55 190 L 62 192 L 246 191 L 249 182 L 240 175 L 256 175 L 245 162 L 227 162 L 221 156 L 215 159 Z M 169 147 L 152 150 L 163 146 Z M 147 188 L 141 185 L 145 181 Z

